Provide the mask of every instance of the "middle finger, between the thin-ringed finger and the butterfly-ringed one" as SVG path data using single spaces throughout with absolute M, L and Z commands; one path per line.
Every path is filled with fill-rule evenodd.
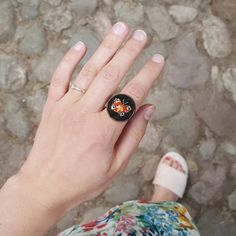
M 136 30 L 124 47 L 98 73 L 80 102 L 87 111 L 101 111 L 107 99 L 117 89 L 121 79 L 143 50 L 147 42 L 147 34 Z

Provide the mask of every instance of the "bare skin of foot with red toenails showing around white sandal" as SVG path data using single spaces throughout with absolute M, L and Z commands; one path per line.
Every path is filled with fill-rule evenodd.
M 165 157 L 163 160 L 163 163 L 166 165 L 171 166 L 172 168 L 175 168 L 178 171 L 181 171 L 185 173 L 183 167 L 180 163 L 173 160 L 170 156 Z M 154 185 L 154 192 L 151 198 L 151 202 L 173 202 L 178 200 L 178 196 L 171 192 L 169 189 L 166 189 L 165 187 Z

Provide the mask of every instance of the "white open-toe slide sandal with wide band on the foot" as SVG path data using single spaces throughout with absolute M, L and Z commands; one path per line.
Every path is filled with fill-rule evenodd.
M 163 163 L 163 160 L 167 156 L 169 156 L 172 160 L 177 161 L 182 166 L 185 173 Z M 153 184 L 165 187 L 176 194 L 179 198 L 182 198 L 187 185 L 187 179 L 188 166 L 185 159 L 176 152 L 168 152 L 162 157 L 158 165 Z

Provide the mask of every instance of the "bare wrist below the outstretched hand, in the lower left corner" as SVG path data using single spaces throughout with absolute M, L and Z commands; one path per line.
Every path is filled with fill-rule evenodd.
M 0 235 L 44 235 L 64 214 L 43 189 L 21 174 L 0 191 Z

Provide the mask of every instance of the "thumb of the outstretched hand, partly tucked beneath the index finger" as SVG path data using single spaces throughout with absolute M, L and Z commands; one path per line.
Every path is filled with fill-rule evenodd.
M 115 144 L 115 158 L 112 169 L 121 170 L 128 164 L 130 157 L 136 151 L 145 134 L 148 121 L 154 111 L 154 105 L 145 104 L 128 121 Z

